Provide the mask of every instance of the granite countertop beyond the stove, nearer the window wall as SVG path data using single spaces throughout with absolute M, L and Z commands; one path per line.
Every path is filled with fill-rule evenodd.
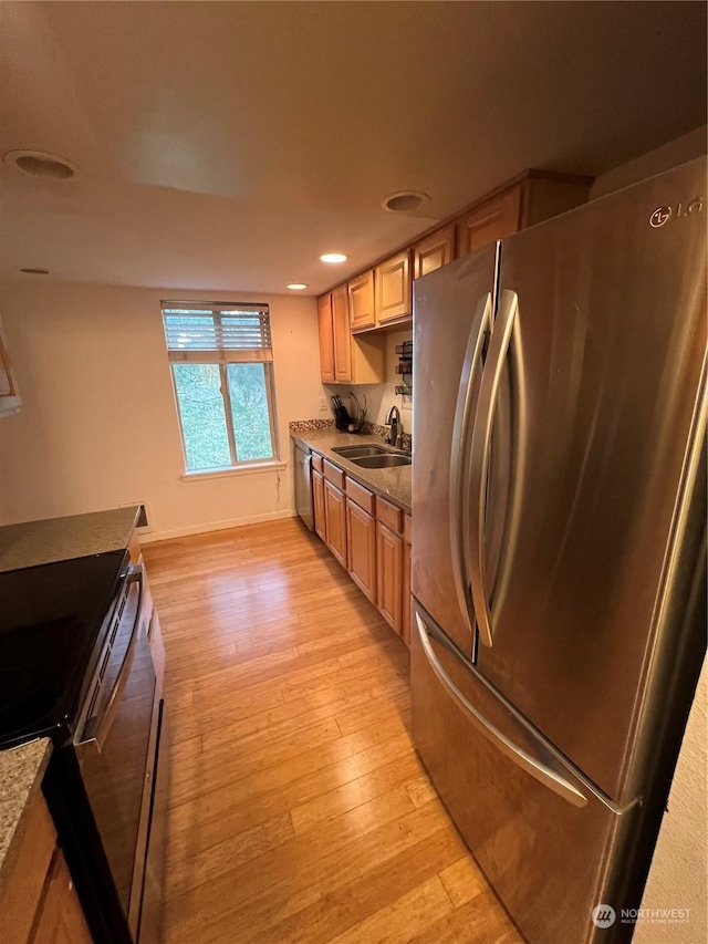
M 0 527 L 0 571 L 127 548 L 139 508 L 112 508 Z

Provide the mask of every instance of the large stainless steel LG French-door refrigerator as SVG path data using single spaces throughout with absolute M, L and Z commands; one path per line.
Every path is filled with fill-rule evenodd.
M 413 736 L 532 944 L 631 937 L 705 652 L 705 189 L 414 287 Z

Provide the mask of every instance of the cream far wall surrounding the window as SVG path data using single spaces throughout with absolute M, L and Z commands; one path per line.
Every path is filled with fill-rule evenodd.
M 287 469 L 181 479 L 162 298 L 270 304 L 280 455 Z M 19 415 L 0 419 L 1 522 L 139 500 L 152 512 L 150 537 L 166 537 L 292 514 L 288 423 L 325 415 L 319 413 L 324 391 L 314 299 L 28 278 L 3 283 L 1 302 L 24 401 Z

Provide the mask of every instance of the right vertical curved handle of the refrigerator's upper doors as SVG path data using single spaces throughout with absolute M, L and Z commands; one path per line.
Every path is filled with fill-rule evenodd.
M 479 629 L 479 640 L 486 646 L 491 646 L 493 642 L 491 610 L 485 573 L 487 468 L 489 465 L 489 448 L 494 423 L 494 407 L 499 395 L 499 384 L 518 310 L 519 297 L 516 292 L 504 289 L 499 301 L 499 313 L 494 321 L 487 363 L 485 364 L 485 372 L 479 388 L 470 449 L 468 492 L 470 496 L 469 529 L 466 529 L 466 533 L 469 535 L 469 538 L 466 539 L 469 547 L 466 548 L 465 559 L 469 560 L 470 563 L 470 585 L 477 626 Z

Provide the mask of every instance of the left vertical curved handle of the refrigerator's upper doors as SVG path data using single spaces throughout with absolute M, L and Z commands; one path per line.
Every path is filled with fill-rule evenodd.
M 465 521 L 465 494 L 467 477 L 465 475 L 466 459 L 469 454 L 469 438 L 472 429 L 473 409 L 472 394 L 476 378 L 481 363 L 485 340 L 491 330 L 492 299 L 491 292 L 487 293 L 485 307 L 479 326 L 472 324 L 472 330 L 467 342 L 462 373 L 460 374 L 457 404 L 455 407 L 455 423 L 452 426 L 452 450 L 450 453 L 450 544 L 452 560 L 452 577 L 460 612 L 469 621 L 470 631 L 475 627 L 475 619 L 471 612 L 469 588 L 467 583 L 468 561 L 466 554 L 466 541 L 462 533 Z

